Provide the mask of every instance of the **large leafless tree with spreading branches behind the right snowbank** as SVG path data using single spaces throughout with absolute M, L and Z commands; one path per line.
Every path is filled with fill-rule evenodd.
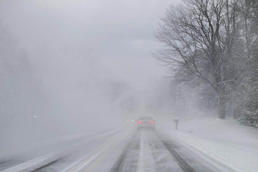
M 173 74 L 207 83 L 218 99 L 218 118 L 224 119 L 226 98 L 245 71 L 239 65 L 242 47 L 238 0 L 183 0 L 171 5 L 155 32 L 163 43 L 154 54 Z M 187 79 L 186 77 L 183 79 Z

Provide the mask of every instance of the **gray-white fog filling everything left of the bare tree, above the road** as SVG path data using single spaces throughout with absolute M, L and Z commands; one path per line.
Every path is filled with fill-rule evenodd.
M 169 79 L 150 53 L 170 4 L 1 1 L 1 152 L 171 113 Z

